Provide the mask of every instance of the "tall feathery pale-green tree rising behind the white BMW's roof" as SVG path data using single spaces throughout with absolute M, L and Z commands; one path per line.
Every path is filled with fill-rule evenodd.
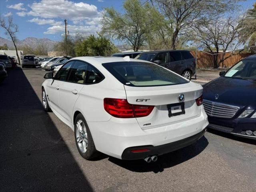
M 159 14 L 148 2 L 142 4 L 140 0 L 126 0 L 123 7 L 123 14 L 114 8 L 104 8 L 102 34 L 126 42 L 138 51 L 154 30 L 152 26 L 157 26 L 154 23 L 158 23 Z

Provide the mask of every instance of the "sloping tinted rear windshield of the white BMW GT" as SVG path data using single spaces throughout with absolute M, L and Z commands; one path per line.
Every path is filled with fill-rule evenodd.
M 188 83 L 188 80 L 152 63 L 112 62 L 102 64 L 117 80 L 127 86 L 164 86 Z

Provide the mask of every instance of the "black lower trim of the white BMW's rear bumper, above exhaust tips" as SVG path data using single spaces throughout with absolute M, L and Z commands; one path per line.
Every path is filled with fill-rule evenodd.
M 192 135 L 188 138 L 184 138 L 182 140 L 178 140 L 175 142 L 167 143 L 164 145 L 159 146 L 138 146 L 138 147 L 130 147 L 124 150 L 122 154 L 123 160 L 135 160 L 135 159 L 142 159 L 146 156 L 152 156 L 152 155 L 162 155 L 166 153 L 170 153 L 172 151 L 184 148 L 186 146 L 189 146 L 193 143 L 195 143 L 197 140 L 199 140 L 206 131 L 206 128 L 202 130 L 201 132 Z M 148 149 L 146 152 L 132 152 L 132 150 L 139 150 L 139 149 Z

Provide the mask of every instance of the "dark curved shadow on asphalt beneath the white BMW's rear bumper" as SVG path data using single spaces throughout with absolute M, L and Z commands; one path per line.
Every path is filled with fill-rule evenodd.
M 194 158 L 200 154 L 206 146 L 208 146 L 208 140 L 203 136 L 190 146 L 158 156 L 156 162 L 147 163 L 144 160 L 120 160 L 113 157 L 110 157 L 108 160 L 132 172 L 158 173 L 163 172 L 166 168 L 171 168 Z

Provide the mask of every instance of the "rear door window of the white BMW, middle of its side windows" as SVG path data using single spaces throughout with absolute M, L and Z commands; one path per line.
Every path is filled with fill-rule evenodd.
M 68 82 L 83 84 L 87 66 L 84 62 L 76 61 L 71 67 Z

